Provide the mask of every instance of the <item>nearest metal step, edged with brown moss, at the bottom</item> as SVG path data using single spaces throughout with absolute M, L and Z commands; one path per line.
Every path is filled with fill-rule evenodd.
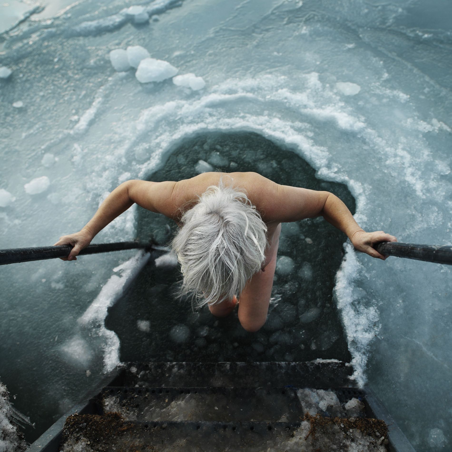
M 63 429 L 61 452 L 283 452 L 303 450 L 388 451 L 383 421 L 358 419 L 342 423 L 322 418 L 300 422 L 146 422 L 127 421 L 118 413 L 69 417 Z

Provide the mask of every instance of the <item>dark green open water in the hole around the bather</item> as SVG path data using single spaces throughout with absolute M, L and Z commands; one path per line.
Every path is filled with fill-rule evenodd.
M 212 133 L 184 141 L 149 180 L 180 180 L 197 175 L 198 160 L 220 171 L 257 171 L 278 184 L 328 190 L 354 213 L 345 185 L 317 179 L 313 168 L 295 153 L 255 133 Z M 233 162 L 233 163 L 232 163 Z M 217 165 L 215 165 L 217 163 Z M 231 165 L 232 163 L 232 165 Z M 176 226 L 163 215 L 140 209 L 138 235 L 167 245 Z M 309 244 L 305 239 L 312 240 Z M 278 256 L 295 263 L 292 273 L 275 275 L 267 322 L 248 333 L 236 310 L 217 319 L 207 309 L 192 310 L 189 300 L 176 300 L 179 268 L 155 267 L 154 260 L 112 308 L 108 329 L 121 340 L 122 361 L 350 361 L 336 307 L 331 302 L 334 276 L 343 258 L 344 235 L 323 217 L 284 223 Z M 156 256 L 158 254 L 155 254 Z M 149 322 L 149 332 L 137 321 Z

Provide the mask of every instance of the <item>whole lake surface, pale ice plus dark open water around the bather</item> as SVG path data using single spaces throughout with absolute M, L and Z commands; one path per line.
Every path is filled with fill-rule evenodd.
M 0 248 L 80 230 L 127 179 L 209 168 L 337 188 L 367 231 L 452 244 L 449 1 L 14 0 L 0 18 Z M 138 69 L 135 46 L 149 53 Z M 94 242 L 165 243 L 171 225 L 143 215 L 132 207 Z M 256 340 L 236 331 L 224 358 L 236 348 L 256 360 L 349 360 L 417 451 L 451 448 L 451 269 L 358 254 L 325 223 L 285 226 L 270 329 Z M 163 302 L 180 317 L 164 339 L 174 358 L 185 341 L 220 356 L 227 325 L 177 304 L 171 259 L 148 259 L 123 251 L 0 268 L 0 380 L 36 423 L 28 441 L 127 359 L 135 338 L 151 343 Z M 163 275 L 160 285 L 127 291 L 141 269 L 141 280 Z

